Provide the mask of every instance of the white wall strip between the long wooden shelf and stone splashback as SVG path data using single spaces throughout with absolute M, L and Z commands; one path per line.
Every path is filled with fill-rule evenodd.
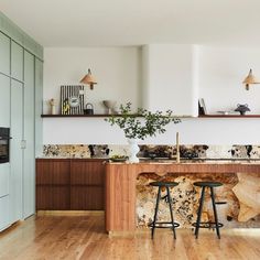
M 174 144 L 176 131 L 181 144 L 259 144 L 259 119 L 185 118 L 170 124 L 164 134 L 140 144 Z M 127 144 L 123 132 L 101 118 L 45 118 L 44 144 Z

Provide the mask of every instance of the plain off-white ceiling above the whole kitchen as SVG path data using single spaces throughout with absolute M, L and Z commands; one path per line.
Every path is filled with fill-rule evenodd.
M 45 47 L 260 45 L 259 0 L 0 0 Z

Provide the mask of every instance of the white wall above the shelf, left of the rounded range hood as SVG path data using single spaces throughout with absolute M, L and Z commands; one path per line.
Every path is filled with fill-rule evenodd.
M 137 108 L 140 105 L 139 59 L 138 47 L 44 48 L 44 113 L 48 113 L 51 98 L 59 105 L 61 85 L 78 85 L 88 68 L 98 82 L 94 90 L 86 87 L 86 101 L 94 105 L 95 113 L 106 112 L 101 102 L 105 99 L 118 104 L 131 101 Z M 59 106 L 56 109 L 58 112 Z

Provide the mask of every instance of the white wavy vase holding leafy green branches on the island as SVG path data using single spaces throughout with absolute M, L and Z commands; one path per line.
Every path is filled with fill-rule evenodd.
M 162 111 L 151 112 L 143 108 L 138 108 L 138 112 L 131 111 L 131 102 L 127 105 L 120 105 L 120 115 L 112 115 L 105 120 L 110 126 L 117 124 L 124 132 L 124 137 L 130 144 L 129 162 L 139 162 L 137 153 L 139 147 L 137 140 L 144 140 L 147 137 L 155 137 L 156 134 L 164 133 L 166 131 L 165 126 L 170 122 L 178 123 L 181 120 L 173 117 L 172 110 L 167 110 L 165 113 Z

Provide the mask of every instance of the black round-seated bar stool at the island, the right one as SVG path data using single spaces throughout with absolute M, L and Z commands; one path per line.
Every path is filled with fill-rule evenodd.
M 195 237 L 196 238 L 198 237 L 199 228 L 216 228 L 217 236 L 220 239 L 219 228 L 223 227 L 224 225 L 218 221 L 217 208 L 216 208 L 216 205 L 218 203 L 215 202 L 214 187 L 223 186 L 223 183 L 219 183 L 219 182 L 195 182 L 194 185 L 202 187 L 202 196 L 199 198 L 199 206 L 198 206 L 198 212 L 197 212 L 197 221 L 193 224 L 193 226 L 195 227 Z M 212 197 L 213 212 L 214 212 L 214 218 L 215 218 L 214 223 L 213 221 L 207 221 L 207 223 L 201 221 L 206 187 L 208 187 L 210 189 L 210 197 Z

